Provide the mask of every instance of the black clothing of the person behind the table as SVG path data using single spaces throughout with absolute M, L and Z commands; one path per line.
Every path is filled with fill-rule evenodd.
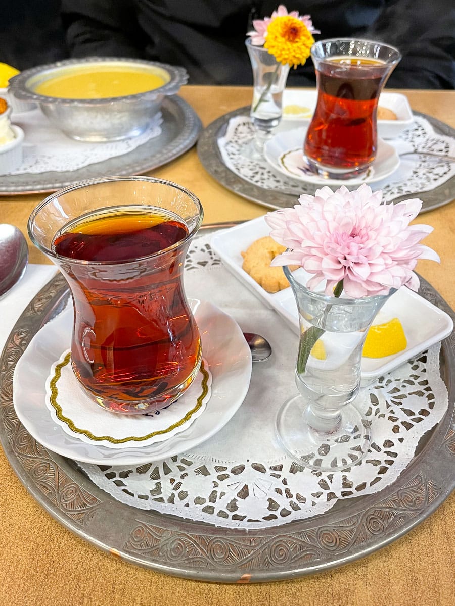
M 0 2 L 0 61 L 23 70 L 67 56 L 130 56 L 183 65 L 190 84 L 252 84 L 251 15 L 280 0 L 16 0 Z M 388 87 L 455 88 L 455 0 L 291 0 L 315 39 L 361 37 L 399 48 Z M 59 9 L 61 8 L 61 18 Z M 63 25 L 62 25 L 63 24 Z M 64 34 L 66 32 L 66 43 Z M 315 85 L 311 59 L 288 85 Z

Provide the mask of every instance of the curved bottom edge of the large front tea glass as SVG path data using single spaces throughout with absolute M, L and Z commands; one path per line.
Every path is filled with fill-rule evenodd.
M 166 391 L 165 393 L 161 393 L 156 398 L 144 398 L 143 400 L 130 399 L 128 401 L 121 400 L 113 400 L 111 398 L 103 398 L 92 391 L 89 391 L 83 384 L 81 384 L 81 388 L 84 393 L 86 393 L 93 402 L 96 402 L 101 408 L 105 408 L 112 413 L 120 413 L 121 415 L 146 415 L 147 413 L 155 412 L 156 410 L 161 410 L 161 408 L 165 408 L 178 400 L 180 396 L 189 388 L 194 379 L 196 378 L 200 366 L 201 366 L 202 358 L 200 358 L 199 363 L 196 365 L 191 375 L 180 385 L 173 387 L 172 390 Z M 75 373 L 76 378 L 78 375 Z M 78 378 L 79 379 L 79 378 Z M 80 380 L 79 380 L 80 384 Z

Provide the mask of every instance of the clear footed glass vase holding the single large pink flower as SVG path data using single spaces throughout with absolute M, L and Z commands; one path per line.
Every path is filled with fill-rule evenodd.
M 391 296 L 347 299 L 315 293 L 284 267 L 297 302 L 300 342 L 295 365 L 299 394 L 283 404 L 277 438 L 301 465 L 342 470 L 362 460 L 369 421 L 355 406 L 366 333 Z

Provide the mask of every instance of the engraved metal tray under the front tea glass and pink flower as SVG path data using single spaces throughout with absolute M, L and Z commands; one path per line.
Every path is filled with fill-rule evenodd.
M 420 295 L 455 318 L 423 279 Z M 0 442 L 36 501 L 62 525 L 107 553 L 142 567 L 206 581 L 295 578 L 347 564 L 388 545 L 427 518 L 455 488 L 453 332 L 443 341 L 440 355 L 450 402 L 447 413 L 423 436 L 396 482 L 382 491 L 340 501 L 314 518 L 248 531 L 217 528 L 115 501 L 92 484 L 75 462 L 36 442 L 13 407 L 16 362 L 68 297 L 66 281 L 58 274 L 27 305 L 8 337 L 0 359 Z

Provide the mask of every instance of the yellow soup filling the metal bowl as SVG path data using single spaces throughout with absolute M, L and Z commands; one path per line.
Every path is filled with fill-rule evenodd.
M 35 88 L 39 95 L 63 99 L 106 99 L 153 90 L 165 84 L 164 78 L 132 68 L 96 67 L 71 70 L 50 78 Z

